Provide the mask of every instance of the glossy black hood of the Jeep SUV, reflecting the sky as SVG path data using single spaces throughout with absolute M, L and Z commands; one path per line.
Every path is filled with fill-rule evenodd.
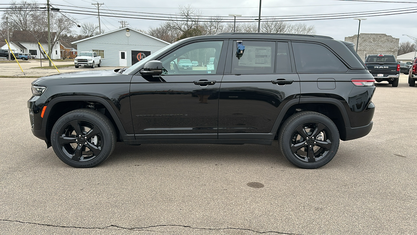
M 117 82 L 118 74 L 114 70 L 80 71 L 62 74 L 53 74 L 41 77 L 32 82 L 34 85 L 57 85 L 57 84 L 91 84 L 91 83 L 113 83 Z

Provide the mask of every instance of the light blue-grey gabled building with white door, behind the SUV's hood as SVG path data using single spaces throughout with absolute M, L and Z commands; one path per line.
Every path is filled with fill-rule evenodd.
M 78 53 L 95 51 L 103 66 L 131 66 L 170 43 L 124 27 L 75 41 Z

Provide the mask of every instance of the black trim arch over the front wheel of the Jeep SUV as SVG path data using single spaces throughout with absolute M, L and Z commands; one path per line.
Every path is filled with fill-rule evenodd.
M 45 110 L 44 118 L 42 119 L 42 126 L 46 127 L 45 135 L 46 138 L 48 138 L 48 146 L 50 144 L 51 130 L 56 121 L 67 112 L 80 108 L 91 108 L 89 105 L 92 105 L 98 111 L 103 112 L 103 114 L 111 120 L 114 128 L 116 129 L 119 140 L 129 139 L 129 135 L 126 134 L 126 130 L 119 120 L 118 115 L 105 99 L 94 96 L 67 96 L 54 98 L 46 105 L 48 108 Z

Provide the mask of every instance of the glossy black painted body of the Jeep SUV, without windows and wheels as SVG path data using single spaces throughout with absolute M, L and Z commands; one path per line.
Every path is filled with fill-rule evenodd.
M 372 79 L 347 48 L 347 42 L 327 37 L 219 34 L 181 40 L 148 57 L 158 60 L 196 41 L 224 40 L 216 74 L 143 76 L 143 68 L 56 74 L 36 79 L 47 89 L 28 101 L 32 131 L 50 143 L 53 117 L 66 107 L 91 107 L 104 112 L 118 130 L 118 140 L 140 143 L 271 144 L 284 120 L 298 109 L 327 107 L 338 113 L 342 140 L 360 138 L 372 129 L 375 87 L 356 87 L 351 79 Z M 288 42 L 291 72 L 233 74 L 236 40 Z M 297 73 L 291 41 L 327 45 L 349 68 L 340 73 Z M 141 64 L 139 62 L 138 64 Z M 195 81 L 208 80 L 207 86 Z M 290 80 L 279 85 L 271 81 Z M 41 117 L 43 107 L 44 117 Z M 62 113 L 61 112 L 61 113 Z M 337 119 L 337 115 L 334 115 Z M 54 119 L 55 118 L 55 119 Z M 49 120 L 49 121 L 48 121 Z

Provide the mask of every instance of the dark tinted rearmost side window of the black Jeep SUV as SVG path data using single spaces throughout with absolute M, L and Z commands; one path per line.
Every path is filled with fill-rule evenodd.
M 347 72 L 347 67 L 326 47 L 292 43 L 297 72 Z

